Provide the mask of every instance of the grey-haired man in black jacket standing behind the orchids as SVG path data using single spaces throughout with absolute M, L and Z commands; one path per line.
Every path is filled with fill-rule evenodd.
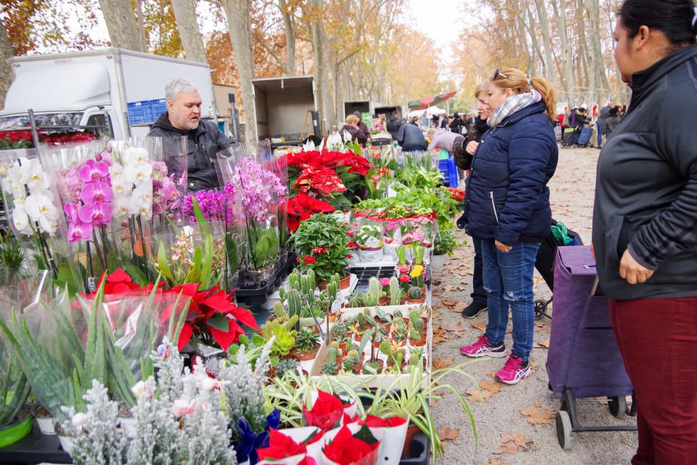
M 177 78 L 165 89 L 167 113 L 160 115 L 148 137 L 162 137 L 164 162 L 176 178 L 183 173 L 182 137 L 187 148 L 187 192 L 217 188 L 215 154 L 235 143 L 213 121 L 201 121 L 201 96 L 193 82 Z

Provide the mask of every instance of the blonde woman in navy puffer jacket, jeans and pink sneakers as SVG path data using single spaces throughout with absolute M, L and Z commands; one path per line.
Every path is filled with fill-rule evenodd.
M 547 183 L 558 159 L 551 123 L 556 93 L 547 79 L 528 79 L 521 70 L 504 68 L 491 78 L 489 105 L 491 129 L 475 152 L 464 212 L 466 231 L 482 241 L 489 322 L 486 333 L 460 351 L 469 357 L 506 357 L 510 308 L 513 349 L 496 377 L 516 384 L 530 374 L 535 257 L 551 227 Z M 438 133 L 434 145 L 464 153 L 462 141 L 453 136 Z

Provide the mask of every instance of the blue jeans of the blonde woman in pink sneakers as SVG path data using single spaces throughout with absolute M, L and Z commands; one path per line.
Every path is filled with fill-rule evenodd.
M 535 332 L 533 273 L 539 243 L 519 242 L 508 253 L 499 252 L 493 239 L 482 239 L 484 290 L 489 294 L 487 339 L 500 344 L 506 335 L 508 309 L 513 312 L 513 350 L 523 361 L 530 358 Z

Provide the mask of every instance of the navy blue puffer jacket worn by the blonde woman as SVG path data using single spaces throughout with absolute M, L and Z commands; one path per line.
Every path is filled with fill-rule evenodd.
M 482 137 L 458 222 L 471 236 L 513 245 L 549 235 L 547 183 L 559 153 L 544 110 L 544 102 L 523 108 Z

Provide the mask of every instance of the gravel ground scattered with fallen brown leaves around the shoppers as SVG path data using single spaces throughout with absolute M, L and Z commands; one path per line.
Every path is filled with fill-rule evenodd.
M 599 151 L 595 148 L 575 148 L 560 150 L 556 176 L 550 184 L 551 203 L 554 218 L 578 231 L 585 244 L 590 243 L 592 227 L 593 190 L 595 188 L 595 166 Z M 459 233 L 459 238 L 466 236 Z M 460 310 L 470 301 L 472 289 L 472 267 L 474 248 L 470 243 L 457 250 L 445 267 L 434 272 L 434 308 L 437 315 L 434 328 L 446 330 L 449 340 L 434 345 L 434 360 L 438 358 L 464 363 L 466 358 L 459 353 L 459 347 L 474 342 L 482 334 L 471 322 L 483 327 L 487 321 L 484 312 L 473 320 L 463 319 Z M 536 272 L 537 273 L 537 272 Z M 548 298 L 549 287 L 541 277 L 537 277 L 535 296 Z M 452 307 L 448 307 L 449 304 Z M 458 323 L 461 325 L 458 326 Z M 549 341 L 549 320 L 539 320 L 535 328 L 535 342 Z M 455 326 L 455 328 L 453 328 Z M 457 329 L 456 329 L 457 328 Z M 506 345 L 512 346 L 511 336 L 507 335 Z M 535 344 L 539 345 L 539 344 Z M 591 432 L 572 434 L 573 447 L 569 452 L 560 448 L 554 418 L 546 420 L 544 414 L 538 415 L 542 424 L 532 425 L 521 410 L 539 405 L 544 411 L 556 413 L 559 400 L 547 388 L 547 374 L 544 368 L 547 354 L 544 346 L 533 349 L 533 366 L 537 365 L 532 376 L 523 379 L 517 386 L 500 386 L 500 390 L 484 402 L 468 400 L 467 404 L 475 419 L 477 438 L 473 435 L 468 418 L 460 408 L 457 397 L 448 393 L 436 402 L 434 416 L 439 429 L 444 427 L 459 429 L 459 435 L 445 441 L 445 464 L 627 464 L 636 450 L 636 432 Z M 503 366 L 502 359 L 477 360 L 466 367 L 477 382 L 493 379 L 488 374 Z M 463 376 L 451 375 L 445 380 L 451 383 L 464 396 L 467 390 L 475 389 L 475 382 Z M 492 388 L 496 390 L 496 386 Z M 489 391 L 482 390 L 484 395 Z M 606 404 L 597 401 L 579 403 L 581 422 L 587 425 L 631 425 L 634 418 L 617 420 L 609 413 Z M 549 423 L 545 424 L 545 421 Z M 495 454 L 502 445 L 502 435 L 517 436 L 520 447 L 509 443 L 507 451 Z M 454 434 L 453 434 L 454 436 Z M 510 439 L 510 438 L 506 438 Z M 523 445 L 524 444 L 524 445 Z M 499 452 L 501 452 L 499 450 Z

